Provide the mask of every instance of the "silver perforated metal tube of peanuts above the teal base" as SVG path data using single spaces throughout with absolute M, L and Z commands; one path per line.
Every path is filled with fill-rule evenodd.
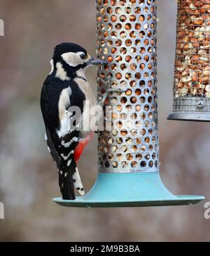
M 97 72 L 110 131 L 99 133 L 99 172 L 158 171 L 156 1 L 97 0 Z M 107 82 L 109 81 L 109 82 Z

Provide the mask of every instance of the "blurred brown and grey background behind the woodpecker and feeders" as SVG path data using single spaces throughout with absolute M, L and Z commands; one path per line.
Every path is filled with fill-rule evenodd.
M 93 0 L 0 0 L 0 241 L 208 241 L 204 202 L 195 206 L 74 209 L 52 203 L 57 171 L 44 141 L 40 91 L 52 49 L 73 41 L 95 54 Z M 210 200 L 208 123 L 167 121 L 172 110 L 176 1 L 158 0 L 158 101 L 162 179 L 174 193 Z M 95 87 L 95 70 L 88 79 Z M 91 160 L 90 160 L 91 159 Z M 96 139 L 79 169 L 97 174 Z

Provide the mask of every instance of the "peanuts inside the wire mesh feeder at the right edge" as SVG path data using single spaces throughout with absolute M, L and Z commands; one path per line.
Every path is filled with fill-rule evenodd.
M 210 0 L 178 0 L 174 95 L 210 98 Z

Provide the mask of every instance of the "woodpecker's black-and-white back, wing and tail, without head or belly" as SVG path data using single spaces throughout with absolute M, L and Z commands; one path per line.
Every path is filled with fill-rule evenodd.
M 78 101 L 79 98 L 79 101 Z M 76 161 L 73 153 L 80 139 L 81 118 L 75 120 L 76 113 L 71 107 L 83 114 L 85 94 L 73 80 L 61 81 L 48 76 L 41 91 L 41 110 L 45 122 L 48 149 L 57 164 L 59 172 L 59 187 L 63 199 L 75 199 L 73 185 L 84 194 Z M 70 110 L 70 111 L 69 111 Z

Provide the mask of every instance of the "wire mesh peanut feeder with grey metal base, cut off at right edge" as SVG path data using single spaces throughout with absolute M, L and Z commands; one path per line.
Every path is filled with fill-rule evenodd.
M 178 1 L 174 103 L 169 120 L 210 121 L 210 1 Z

